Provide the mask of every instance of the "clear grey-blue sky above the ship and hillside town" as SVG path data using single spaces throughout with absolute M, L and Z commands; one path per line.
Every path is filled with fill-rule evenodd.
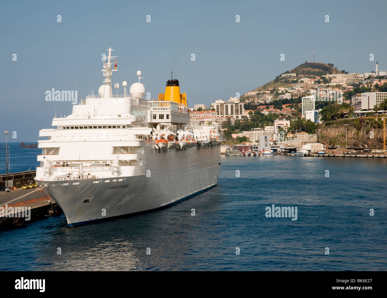
M 8 1 L 0 12 L 0 130 L 36 142 L 55 113 L 46 90 L 77 90 L 80 100 L 92 84 L 97 93 L 110 42 L 118 76 L 130 84 L 141 70 L 157 98 L 173 71 L 190 107 L 253 90 L 312 50 L 339 70 L 370 72 L 376 61 L 386 70 L 386 12 L 386 1 Z M 123 92 L 121 78 L 114 82 Z M 58 114 L 71 110 L 57 103 Z

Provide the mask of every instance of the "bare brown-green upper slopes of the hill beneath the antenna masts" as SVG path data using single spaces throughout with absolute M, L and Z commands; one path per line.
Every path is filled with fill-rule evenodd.
M 284 72 L 287 73 L 295 73 L 297 78 L 281 78 L 281 75 L 277 76 L 274 80 L 266 83 L 259 88 L 256 88 L 250 92 L 265 90 L 267 88 L 278 88 L 278 87 L 290 87 L 292 86 L 291 80 L 300 79 L 302 76 L 323 76 L 325 74 L 341 74 L 341 71 L 338 69 L 325 64 L 325 63 L 303 63 L 293 68 L 290 71 Z M 285 81 L 287 80 L 287 81 Z

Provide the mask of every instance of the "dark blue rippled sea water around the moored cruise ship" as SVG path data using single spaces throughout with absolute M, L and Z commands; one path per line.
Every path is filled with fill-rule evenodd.
M 11 171 L 35 166 L 35 150 L 11 148 Z M 387 270 L 387 160 L 221 162 L 216 187 L 171 207 L 73 228 L 62 214 L 1 231 L 0 270 Z M 266 217 L 272 204 L 297 207 L 297 220 Z

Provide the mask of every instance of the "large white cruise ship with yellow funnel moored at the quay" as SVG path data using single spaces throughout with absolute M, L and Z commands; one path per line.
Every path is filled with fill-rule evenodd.
M 168 206 L 216 185 L 221 169 L 216 123 L 190 121 L 186 93 L 170 79 L 157 100 L 144 84 L 122 82 L 113 95 L 113 49 L 104 57 L 98 95 L 39 131 L 35 180 L 76 226 Z M 112 65 L 114 67 L 112 68 Z M 119 88 L 115 84 L 115 88 Z

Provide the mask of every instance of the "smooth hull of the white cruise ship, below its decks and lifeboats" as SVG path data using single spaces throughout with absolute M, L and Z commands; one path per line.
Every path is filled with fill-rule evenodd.
M 150 162 L 139 166 L 143 175 L 39 184 L 47 184 L 48 194 L 62 208 L 69 227 L 165 207 L 216 185 L 219 147 L 167 151 L 144 158 Z M 87 197 L 89 202 L 85 202 Z

